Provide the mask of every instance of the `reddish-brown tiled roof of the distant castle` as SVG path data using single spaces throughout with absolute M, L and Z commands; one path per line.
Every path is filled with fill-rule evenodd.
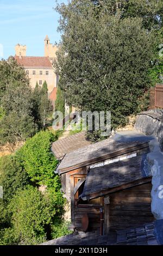
M 24 68 L 48 68 L 53 69 L 48 57 L 15 56 L 15 60 Z

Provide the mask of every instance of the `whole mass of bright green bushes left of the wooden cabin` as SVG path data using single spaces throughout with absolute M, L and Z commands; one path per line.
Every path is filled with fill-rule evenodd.
M 1 245 L 34 245 L 69 232 L 62 220 L 65 199 L 60 179 L 54 174 L 58 161 L 51 144 L 55 139 L 49 131 L 41 131 L 14 155 L 1 158 Z

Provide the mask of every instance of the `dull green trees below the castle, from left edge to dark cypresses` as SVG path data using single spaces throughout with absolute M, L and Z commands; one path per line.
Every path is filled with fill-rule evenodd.
M 9 58 L 0 62 L 0 141 L 15 145 L 45 129 L 52 112 L 46 86 L 32 90 L 29 78 L 18 63 Z

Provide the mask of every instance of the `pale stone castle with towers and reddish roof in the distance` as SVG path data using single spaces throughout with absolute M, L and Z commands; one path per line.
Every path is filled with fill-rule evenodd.
M 48 35 L 44 40 L 44 57 L 26 56 L 27 46 L 17 44 L 15 46 L 14 59 L 23 66 L 30 79 L 30 86 L 35 88 L 36 82 L 42 86 L 47 82 L 49 99 L 55 101 L 59 77 L 55 74 L 53 60 L 57 58 L 58 47 L 50 43 Z

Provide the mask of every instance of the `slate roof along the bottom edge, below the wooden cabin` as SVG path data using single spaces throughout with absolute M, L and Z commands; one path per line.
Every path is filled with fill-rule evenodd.
M 76 231 L 42 245 L 158 245 L 158 242 L 154 234 L 154 222 L 151 222 L 103 236 L 99 236 L 99 231 Z

